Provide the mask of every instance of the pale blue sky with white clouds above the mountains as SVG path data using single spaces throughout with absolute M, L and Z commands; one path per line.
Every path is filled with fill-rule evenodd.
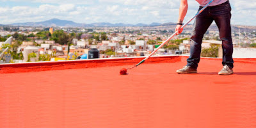
M 0 24 L 39 22 L 53 18 L 77 23 L 151 24 L 177 22 L 180 0 L 0 0 Z M 199 4 L 188 0 L 185 20 Z M 256 26 L 255 0 L 230 0 L 234 25 Z

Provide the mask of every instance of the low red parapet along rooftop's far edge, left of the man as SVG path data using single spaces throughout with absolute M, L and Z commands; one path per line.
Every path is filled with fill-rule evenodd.
M 40 72 L 47 70 L 65 70 L 76 68 L 93 68 L 93 67 L 111 67 L 118 65 L 136 65 L 144 58 L 111 58 L 95 60 L 74 60 L 74 61 L 49 61 L 35 63 L 10 63 L 0 65 L 0 73 L 17 73 L 17 72 Z M 181 56 L 156 56 L 147 60 L 147 63 L 164 63 L 177 62 Z

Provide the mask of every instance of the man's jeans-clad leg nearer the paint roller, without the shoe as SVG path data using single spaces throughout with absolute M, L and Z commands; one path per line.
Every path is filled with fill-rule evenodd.
M 202 7 L 201 7 L 202 8 Z M 212 17 L 209 15 L 209 8 L 206 8 L 202 13 L 196 17 L 193 25 L 193 33 L 191 36 L 190 56 L 188 58 L 188 65 L 191 68 L 197 68 L 200 61 L 200 54 L 202 49 L 202 40 L 205 32 L 212 24 Z

